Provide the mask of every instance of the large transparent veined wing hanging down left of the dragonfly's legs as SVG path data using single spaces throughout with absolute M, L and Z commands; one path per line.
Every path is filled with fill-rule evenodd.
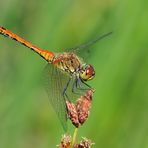
M 65 73 L 51 64 L 47 64 L 45 67 L 44 78 L 44 85 L 48 93 L 49 101 L 58 115 L 64 130 L 66 131 L 67 110 L 62 92 L 69 78 L 65 75 Z

